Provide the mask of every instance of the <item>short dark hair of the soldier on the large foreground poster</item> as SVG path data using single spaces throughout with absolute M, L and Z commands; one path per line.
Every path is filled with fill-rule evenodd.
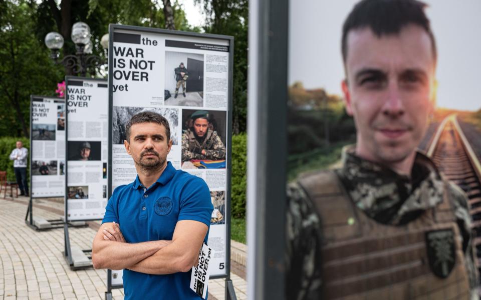
M 418 0 L 361 0 L 347 16 L 342 27 L 341 51 L 346 64 L 347 35 L 350 30 L 370 27 L 378 36 L 398 34 L 402 27 L 414 24 L 426 30 L 431 39 L 434 63 L 437 60 L 436 41 L 429 19 L 424 13 L 427 5 Z

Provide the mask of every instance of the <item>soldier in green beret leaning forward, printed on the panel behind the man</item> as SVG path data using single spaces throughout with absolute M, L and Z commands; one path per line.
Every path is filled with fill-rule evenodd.
M 197 110 L 190 116 L 192 127 L 182 134 L 182 161 L 225 159 L 225 145 L 217 131 L 209 128 L 209 112 Z

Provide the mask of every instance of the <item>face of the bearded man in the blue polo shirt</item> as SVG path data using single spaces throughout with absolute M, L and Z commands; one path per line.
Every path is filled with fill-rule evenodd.
M 167 140 L 164 125 L 146 122 L 130 127 L 130 142 L 124 145 L 137 165 L 157 169 L 166 163 L 172 140 Z

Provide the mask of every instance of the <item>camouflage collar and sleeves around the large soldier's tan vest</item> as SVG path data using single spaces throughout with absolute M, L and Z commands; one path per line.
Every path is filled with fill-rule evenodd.
M 434 164 L 417 153 L 412 178 L 354 154 L 353 147 L 343 151 L 343 166 L 334 170 L 354 205 L 381 224 L 403 225 L 442 202 L 445 186 L 461 232 L 465 269 L 471 295 L 477 298 L 478 282 L 473 255 L 469 204 L 462 190 L 444 180 Z M 322 298 L 321 275 L 323 228 L 314 203 L 304 188 L 295 182 L 287 189 L 287 279 L 288 299 Z M 348 220 L 349 222 L 349 220 Z

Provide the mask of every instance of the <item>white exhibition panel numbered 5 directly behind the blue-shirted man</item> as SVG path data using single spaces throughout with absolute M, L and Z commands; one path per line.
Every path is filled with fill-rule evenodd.
M 202 37 L 201 34 L 190 36 L 114 27 L 110 49 L 113 56 L 109 65 L 113 106 L 111 190 L 129 184 L 137 175 L 134 162 L 123 145 L 125 124 L 130 117 L 144 110 L 154 110 L 166 117 L 173 140 L 167 160 L 175 168 L 203 178 L 210 188 L 214 213 L 208 244 L 215 250 L 209 266 L 210 275 L 226 275 L 227 169 L 225 166 L 197 168 L 199 165 L 193 166 L 192 160 L 182 161 L 181 144 L 190 115 L 196 110 L 207 110 L 215 122 L 214 130 L 228 149 L 226 141 L 231 134 L 227 125 L 231 89 L 229 40 Z M 175 97 L 178 83 L 174 69 L 181 62 L 187 68 L 189 78 L 186 80 L 186 95 L 180 86 Z

